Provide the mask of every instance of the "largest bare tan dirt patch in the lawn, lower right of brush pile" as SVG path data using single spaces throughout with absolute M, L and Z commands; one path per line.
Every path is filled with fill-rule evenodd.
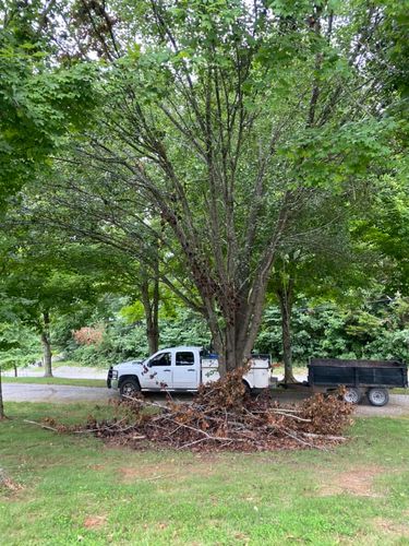
M 326 483 L 322 485 L 320 495 L 327 497 L 345 492 L 357 497 L 381 497 L 382 495 L 373 490 L 373 482 L 383 472 L 382 466 L 363 466 L 333 474 L 326 477 Z

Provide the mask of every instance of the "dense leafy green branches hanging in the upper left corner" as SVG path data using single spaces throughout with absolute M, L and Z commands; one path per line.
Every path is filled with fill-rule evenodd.
M 41 2 L 0 2 L 0 206 L 51 165 L 63 136 L 85 127 L 96 104 L 95 67 L 67 69 L 41 38 Z M 52 7 L 51 7 L 52 8 Z

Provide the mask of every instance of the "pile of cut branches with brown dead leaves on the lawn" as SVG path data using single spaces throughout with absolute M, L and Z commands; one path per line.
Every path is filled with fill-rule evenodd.
M 351 424 L 352 405 L 339 393 L 315 394 L 302 404 L 281 407 L 269 394 L 245 393 L 242 370 L 201 387 L 191 403 L 166 404 L 139 396 L 118 403 L 111 420 L 91 417 L 82 427 L 57 431 L 92 432 L 106 441 L 134 449 L 152 447 L 192 451 L 273 451 L 340 443 Z M 47 424 L 50 427 L 50 423 Z

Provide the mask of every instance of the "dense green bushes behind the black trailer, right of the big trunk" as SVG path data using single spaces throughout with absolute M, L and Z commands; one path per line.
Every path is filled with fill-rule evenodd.
M 401 359 L 409 361 L 409 304 L 398 294 L 395 299 L 366 295 L 348 306 L 322 304 L 313 307 L 299 300 L 291 319 L 292 354 L 296 364 L 310 357 Z M 280 313 L 268 307 L 256 348 L 281 359 Z

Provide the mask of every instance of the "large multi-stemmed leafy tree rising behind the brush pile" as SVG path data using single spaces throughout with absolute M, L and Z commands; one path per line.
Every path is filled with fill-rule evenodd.
M 97 209 L 100 238 L 137 256 L 146 234 L 168 248 L 232 369 L 297 217 L 325 194 L 348 206 L 385 166 L 396 110 L 374 40 L 392 15 L 363 0 L 81 5 L 64 32 L 73 56 L 87 58 L 80 33 L 103 59 L 99 110 L 50 191 Z

